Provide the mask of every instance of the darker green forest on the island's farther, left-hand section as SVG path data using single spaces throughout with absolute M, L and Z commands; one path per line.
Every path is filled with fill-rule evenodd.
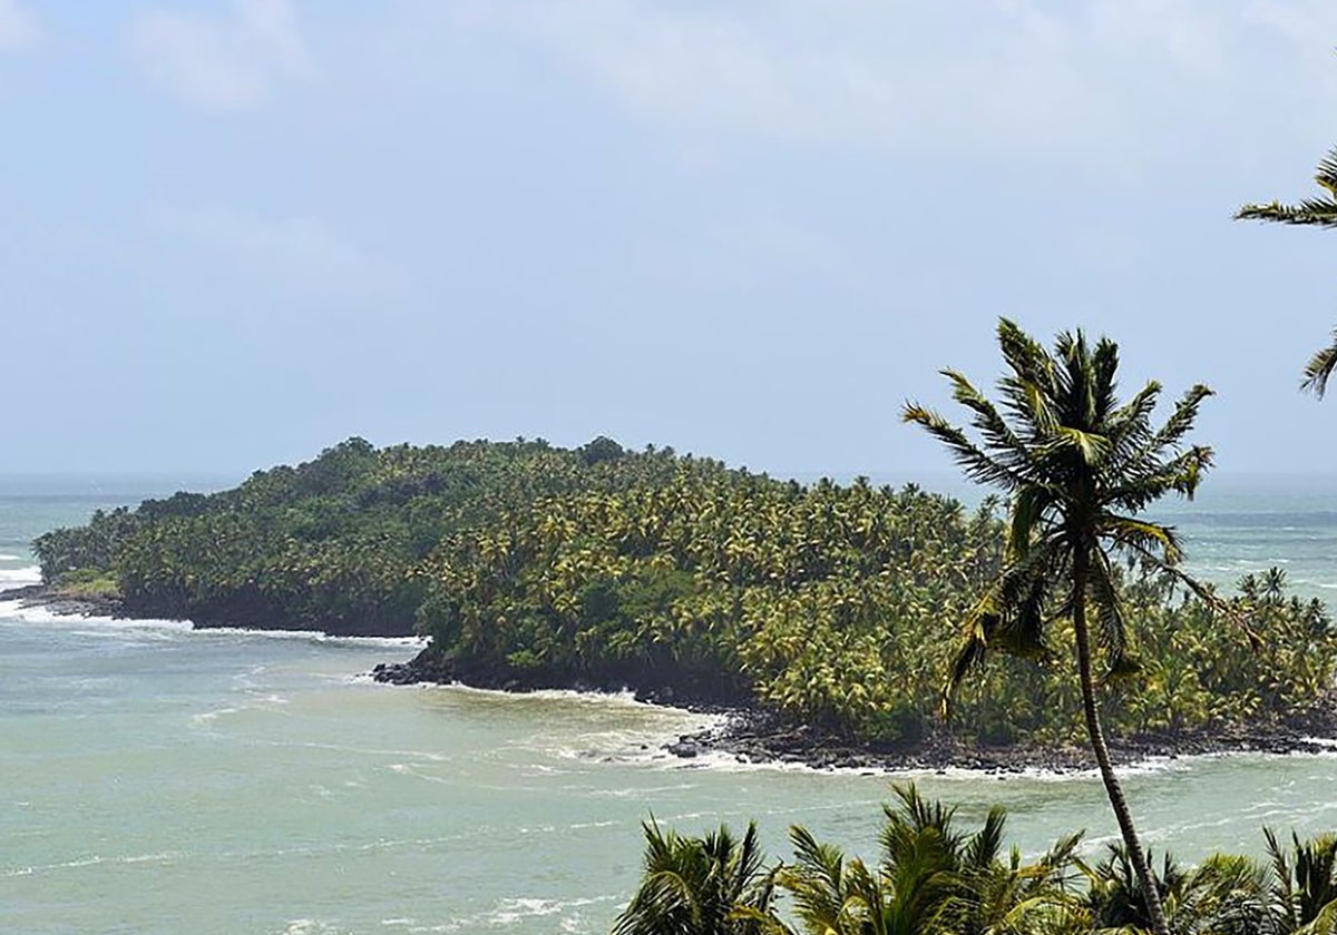
M 112 574 L 131 614 L 409 636 L 422 601 L 410 572 L 451 532 L 543 494 L 655 482 L 674 461 L 610 439 L 568 451 L 541 439 L 377 450 L 350 438 L 231 490 L 98 512 L 37 537 L 33 552 L 48 582 Z

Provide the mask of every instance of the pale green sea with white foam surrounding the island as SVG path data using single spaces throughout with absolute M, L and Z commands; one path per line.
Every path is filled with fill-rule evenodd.
M 1269 565 L 1337 590 L 1337 482 L 1217 482 L 1162 518 L 1191 566 Z M 1210 486 L 1210 485 L 1209 485 Z M 31 538 L 164 481 L 0 482 L 0 584 Z M 872 852 L 888 776 L 671 760 L 701 717 L 563 693 L 385 688 L 406 641 L 194 633 L 0 604 L 0 931 L 604 932 L 632 888 L 639 823 L 762 821 Z M 1091 777 L 920 776 L 975 817 L 1012 809 L 1039 850 L 1114 833 Z M 1182 759 L 1130 771 L 1155 850 L 1258 851 L 1258 828 L 1337 828 L 1337 756 Z

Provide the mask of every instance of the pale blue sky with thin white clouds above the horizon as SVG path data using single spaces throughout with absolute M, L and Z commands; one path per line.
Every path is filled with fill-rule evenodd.
M 377 445 L 951 470 L 1000 315 L 1337 472 L 1330 0 L 0 0 L 0 473 Z

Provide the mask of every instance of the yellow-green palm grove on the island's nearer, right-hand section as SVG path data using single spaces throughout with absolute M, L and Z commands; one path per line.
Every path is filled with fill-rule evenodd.
M 959 621 L 1003 566 L 1003 540 L 992 505 L 683 470 L 662 486 L 543 497 L 448 537 L 422 565 L 420 617 L 456 672 L 485 684 L 668 684 L 904 744 L 941 729 Z M 1231 598 L 1258 653 L 1175 578 L 1111 574 L 1139 622 L 1124 661 L 1140 660 L 1136 681 L 1099 699 L 1115 733 L 1280 719 L 1326 697 L 1337 642 L 1321 605 L 1282 584 L 1266 616 L 1259 594 Z M 1074 634 L 1048 640 L 1044 657 L 1003 659 L 964 685 L 951 729 L 996 744 L 1079 736 Z

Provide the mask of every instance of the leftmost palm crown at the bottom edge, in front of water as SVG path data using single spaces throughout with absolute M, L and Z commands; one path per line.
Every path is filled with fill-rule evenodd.
M 755 824 L 742 840 L 723 825 L 705 837 L 663 832 L 654 819 L 642 827 L 646 870 L 614 935 L 761 935 L 778 928 Z

